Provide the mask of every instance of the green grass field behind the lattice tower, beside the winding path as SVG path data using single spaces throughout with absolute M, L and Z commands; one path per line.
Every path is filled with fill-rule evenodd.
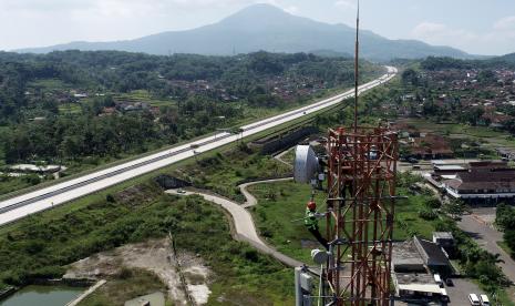
M 249 192 L 258 200 L 258 205 L 251 208 L 251 213 L 261 236 L 293 258 L 311 261 L 310 248 L 302 248 L 301 241 L 312 241 L 313 237 L 306 230 L 303 222 L 298 221 L 305 216 L 311 187 L 293 182 L 277 182 L 249 186 Z M 401 194 L 403 194 L 402 190 Z M 410 195 L 409 198 L 396 202 L 394 239 L 408 239 L 413 235 L 432 237 L 435 222 L 419 216 L 419 211 L 424 207 L 426 198 L 425 195 Z M 326 211 L 323 192 L 317 192 L 316 202 L 319 211 Z M 319 224 L 323 233 L 325 221 L 321 220 Z

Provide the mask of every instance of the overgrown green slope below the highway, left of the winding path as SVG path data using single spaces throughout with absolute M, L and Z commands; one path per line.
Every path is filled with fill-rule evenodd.
M 58 207 L 2 228 L 0 279 L 22 285 L 37 277 L 60 276 L 74 261 L 125 243 L 164 237 L 171 231 L 178 248 L 199 254 L 214 269 L 213 305 L 230 292 L 241 293 L 240 298 L 248 294 L 251 305 L 291 303 L 289 269 L 233 241 L 224 214 L 200 197 L 168 196 L 153 183 L 144 183 L 109 200 L 96 198 L 73 211 Z

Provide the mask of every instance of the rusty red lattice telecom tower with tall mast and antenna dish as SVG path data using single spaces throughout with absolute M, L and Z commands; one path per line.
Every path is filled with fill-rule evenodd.
M 329 244 L 325 256 L 320 256 L 320 251 L 312 253 L 322 267 L 319 273 L 311 271 L 319 277 L 319 294 L 303 295 L 297 299 L 297 305 L 311 305 L 311 302 L 305 302 L 313 298 L 319 305 L 322 302 L 336 306 L 385 306 L 392 302 L 392 233 L 399 144 L 396 133 L 385 126 L 359 126 L 359 4 L 354 65 L 353 124 L 329 130 L 327 157 L 315 156 L 309 146 L 296 150 L 296 181 L 320 186 L 325 180 L 326 238 Z M 310 272 L 307 267 L 303 271 Z M 302 278 L 299 276 L 298 279 Z

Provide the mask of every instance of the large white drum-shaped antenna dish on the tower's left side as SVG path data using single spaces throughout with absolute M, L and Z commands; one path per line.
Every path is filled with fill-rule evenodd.
M 297 183 L 311 183 L 320 171 L 318 157 L 310 145 L 297 145 L 295 150 L 293 178 Z

